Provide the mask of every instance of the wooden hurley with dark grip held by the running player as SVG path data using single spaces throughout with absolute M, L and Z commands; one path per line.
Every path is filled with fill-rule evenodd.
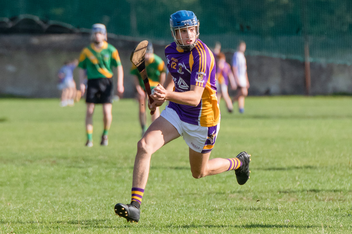
M 152 91 L 150 89 L 150 84 L 147 76 L 147 71 L 145 69 L 145 59 L 144 59 L 145 51 L 147 50 L 147 45 L 148 45 L 148 41 L 139 42 L 136 48 L 133 49 L 130 60 L 137 67 L 140 75 L 142 76 L 145 90 L 147 91 L 149 102 L 151 104 L 154 102 L 154 99 L 152 99 L 150 96 Z M 155 111 L 150 112 L 151 115 L 153 115 L 154 113 Z

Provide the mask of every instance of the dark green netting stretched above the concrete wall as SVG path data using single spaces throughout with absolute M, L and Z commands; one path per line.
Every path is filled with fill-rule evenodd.
M 200 20 L 200 39 L 234 50 L 239 40 L 247 54 L 352 64 L 351 0 L 6 0 L 0 17 L 20 14 L 90 28 L 100 22 L 108 32 L 172 41 L 170 14 L 187 9 Z

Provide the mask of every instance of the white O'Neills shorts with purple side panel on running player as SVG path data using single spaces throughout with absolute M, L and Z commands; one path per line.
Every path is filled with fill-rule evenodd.
M 176 111 L 168 106 L 165 107 L 165 110 L 160 115 L 177 129 L 177 132 L 183 136 L 183 140 L 186 141 L 189 148 L 195 152 L 208 153 L 214 148 L 220 123 L 213 127 L 202 127 L 186 123 L 181 121 Z

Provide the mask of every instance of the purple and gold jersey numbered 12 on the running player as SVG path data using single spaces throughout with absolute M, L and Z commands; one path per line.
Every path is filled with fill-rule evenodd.
M 198 40 L 191 51 L 176 48 L 172 42 L 165 48 L 167 67 L 175 83 L 174 92 L 190 91 L 191 85 L 204 88 L 197 106 L 169 103 L 183 122 L 213 127 L 220 122 L 220 108 L 216 98 L 215 59 L 210 49 Z

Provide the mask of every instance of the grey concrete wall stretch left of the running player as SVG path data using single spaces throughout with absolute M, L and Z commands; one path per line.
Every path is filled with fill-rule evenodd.
M 125 97 L 133 97 L 133 80 L 130 75 L 130 55 L 139 41 L 113 39 L 124 68 Z M 13 94 L 36 98 L 58 98 L 57 72 L 65 60 L 79 58 L 89 45 L 88 35 L 4 35 L 0 37 L 0 94 Z M 164 45 L 155 45 L 155 53 L 165 57 Z M 74 71 L 78 87 L 78 71 Z M 113 76 L 116 86 L 117 76 Z

